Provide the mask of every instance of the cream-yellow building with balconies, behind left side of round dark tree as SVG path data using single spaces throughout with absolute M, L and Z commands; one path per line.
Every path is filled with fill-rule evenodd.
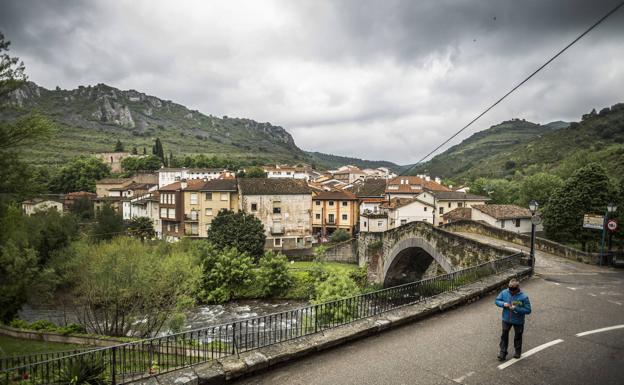
M 206 238 L 220 210 L 238 209 L 236 179 L 213 179 L 184 190 L 184 235 Z

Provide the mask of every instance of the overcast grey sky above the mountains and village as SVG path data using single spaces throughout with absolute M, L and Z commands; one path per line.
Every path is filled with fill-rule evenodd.
M 106 83 L 406 164 L 621 0 L 0 0 L 31 80 Z M 624 102 L 624 9 L 453 143 L 509 118 Z

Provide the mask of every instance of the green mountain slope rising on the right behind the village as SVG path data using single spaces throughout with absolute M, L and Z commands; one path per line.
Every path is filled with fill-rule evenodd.
M 514 119 L 478 132 L 416 167 L 413 173 L 467 181 L 504 178 L 520 172 L 554 172 L 563 177 L 587 162 L 601 163 L 624 177 L 624 103 L 593 110 L 580 122 L 545 125 Z

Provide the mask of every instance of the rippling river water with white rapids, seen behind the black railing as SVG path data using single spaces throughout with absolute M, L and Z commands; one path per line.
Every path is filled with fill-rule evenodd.
M 221 305 L 197 306 L 187 312 L 185 329 L 200 329 L 246 318 L 292 310 L 305 305 L 307 305 L 305 301 L 243 300 L 232 301 Z M 20 319 L 27 322 L 48 320 L 57 325 L 78 322 L 78 317 L 73 309 L 64 309 L 62 307 L 51 308 L 24 305 L 18 316 Z

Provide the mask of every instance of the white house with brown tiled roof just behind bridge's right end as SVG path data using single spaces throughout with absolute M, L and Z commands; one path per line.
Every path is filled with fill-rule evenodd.
M 531 232 L 531 211 L 516 205 L 475 205 L 471 219 L 516 233 Z M 537 225 L 535 230 L 542 231 L 543 226 Z

